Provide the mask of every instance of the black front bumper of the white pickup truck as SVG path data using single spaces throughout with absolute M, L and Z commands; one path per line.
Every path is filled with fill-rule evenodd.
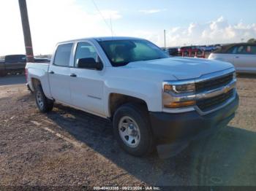
M 151 128 L 154 137 L 163 145 L 176 145 L 174 150 L 184 149 L 190 141 L 208 136 L 225 127 L 235 116 L 239 98 L 222 109 L 207 115 L 196 111 L 170 114 L 165 112 L 150 112 Z

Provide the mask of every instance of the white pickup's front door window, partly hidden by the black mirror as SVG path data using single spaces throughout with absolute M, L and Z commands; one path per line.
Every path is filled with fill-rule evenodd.
M 78 59 L 80 58 L 94 58 L 97 60 L 97 52 L 95 48 L 88 42 L 79 42 L 77 50 L 75 52 L 75 67 L 78 65 Z

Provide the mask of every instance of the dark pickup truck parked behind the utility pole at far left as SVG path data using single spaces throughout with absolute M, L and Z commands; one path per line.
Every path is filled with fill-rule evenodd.
M 46 58 L 34 58 L 37 63 L 50 62 Z M 6 55 L 0 61 L 0 77 L 4 77 L 8 72 L 24 72 L 26 66 L 26 55 Z

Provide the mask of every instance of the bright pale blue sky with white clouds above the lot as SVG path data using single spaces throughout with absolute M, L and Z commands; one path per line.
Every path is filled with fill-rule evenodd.
M 135 36 L 159 47 L 256 38 L 255 0 L 26 0 L 34 55 L 57 42 Z M 18 0 L 0 0 L 0 55 L 25 53 Z

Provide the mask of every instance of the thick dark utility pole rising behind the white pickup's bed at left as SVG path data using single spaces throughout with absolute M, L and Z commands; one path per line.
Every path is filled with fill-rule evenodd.
M 25 42 L 25 49 L 26 49 L 26 61 L 27 62 L 34 62 L 34 53 L 31 41 L 31 33 L 29 27 L 29 15 L 28 10 L 26 8 L 26 0 L 19 0 L 20 5 L 20 16 L 23 28 L 23 36 Z

